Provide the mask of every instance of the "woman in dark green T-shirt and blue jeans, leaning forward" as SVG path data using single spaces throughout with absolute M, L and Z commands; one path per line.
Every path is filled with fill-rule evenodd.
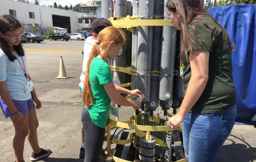
M 180 75 L 185 94 L 179 112 L 167 124 L 177 129 L 182 123 L 189 162 L 213 162 L 235 123 L 233 46 L 200 0 L 168 0 L 166 7 L 170 22 L 180 30 Z

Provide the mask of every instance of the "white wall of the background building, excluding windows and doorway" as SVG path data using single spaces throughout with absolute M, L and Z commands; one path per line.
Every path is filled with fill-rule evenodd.
M 20 20 L 20 22 L 23 21 L 23 23 L 25 24 L 42 24 L 42 27 L 44 27 L 45 29 L 47 27 L 52 27 L 52 15 L 54 14 L 70 17 L 71 33 L 76 33 L 78 30 L 81 30 L 81 23 L 78 23 L 78 18 L 81 18 L 81 13 L 79 12 L 39 6 L 30 3 L 17 2 L 13 0 L 0 0 L 0 15 L 9 14 L 9 9 L 16 10 L 17 18 Z M 29 18 L 29 12 L 35 13 L 35 19 Z

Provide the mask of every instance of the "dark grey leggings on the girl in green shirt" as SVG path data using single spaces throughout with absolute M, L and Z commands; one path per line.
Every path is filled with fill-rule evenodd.
M 82 123 L 85 130 L 84 162 L 97 162 L 99 161 L 100 151 L 104 142 L 105 129 L 92 122 L 87 108 L 82 110 Z

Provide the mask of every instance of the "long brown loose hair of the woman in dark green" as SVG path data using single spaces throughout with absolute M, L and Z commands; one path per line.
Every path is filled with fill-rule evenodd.
M 168 10 L 173 12 L 178 12 L 179 14 L 179 23 L 180 23 L 180 60 L 183 62 L 188 63 L 188 51 L 192 54 L 192 43 L 194 45 L 195 42 L 189 37 L 188 34 L 188 25 L 192 26 L 192 29 L 194 30 L 196 39 L 202 43 L 203 41 L 197 37 L 197 32 L 195 30 L 195 24 L 192 23 L 193 20 L 199 19 L 202 21 L 204 26 L 211 30 L 212 32 L 212 42 L 215 41 L 215 30 L 213 27 L 209 26 L 207 23 L 205 23 L 204 18 L 208 17 L 212 21 L 214 21 L 218 26 L 223 30 L 225 36 L 228 39 L 229 48 L 230 51 L 234 51 L 234 45 L 230 42 L 229 36 L 225 29 L 222 28 L 222 26 L 214 20 L 210 14 L 208 14 L 202 7 L 200 0 L 168 0 L 166 3 L 166 7 Z M 188 49 L 188 51 L 187 51 Z

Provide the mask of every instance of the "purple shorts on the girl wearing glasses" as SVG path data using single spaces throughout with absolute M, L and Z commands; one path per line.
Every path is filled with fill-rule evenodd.
M 18 101 L 18 100 L 12 100 L 16 108 L 19 112 L 21 112 L 24 116 L 28 114 L 29 110 L 35 109 L 35 104 L 32 98 L 25 101 Z M 0 107 L 3 111 L 3 114 L 5 114 L 5 118 L 8 118 L 11 116 L 11 111 L 7 108 L 6 104 L 3 102 L 3 100 L 0 98 Z

